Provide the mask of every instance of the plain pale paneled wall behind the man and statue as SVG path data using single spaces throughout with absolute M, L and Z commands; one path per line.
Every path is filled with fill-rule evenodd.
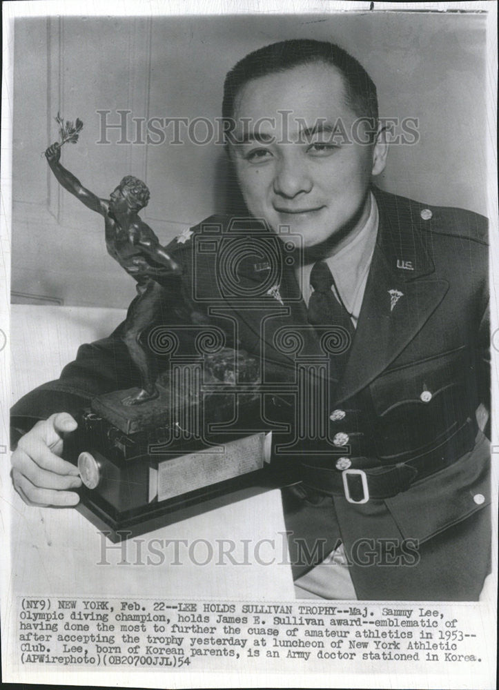
M 151 199 L 141 215 L 167 244 L 226 209 L 222 147 L 119 145 L 117 132 L 112 145 L 98 145 L 97 110 L 112 110 L 115 121 L 119 108 L 146 119 L 214 119 L 226 71 L 251 50 L 295 37 L 332 40 L 357 57 L 378 86 L 380 115 L 418 117 L 419 143 L 392 148 L 382 187 L 485 213 L 485 20 L 478 14 L 23 18 L 14 35 L 12 290 L 115 307 L 135 294 L 106 254 L 101 218 L 59 188 L 41 157 L 57 139 L 58 110 L 84 121 L 79 143 L 63 148 L 63 165 L 103 197 L 124 175 L 144 179 Z

